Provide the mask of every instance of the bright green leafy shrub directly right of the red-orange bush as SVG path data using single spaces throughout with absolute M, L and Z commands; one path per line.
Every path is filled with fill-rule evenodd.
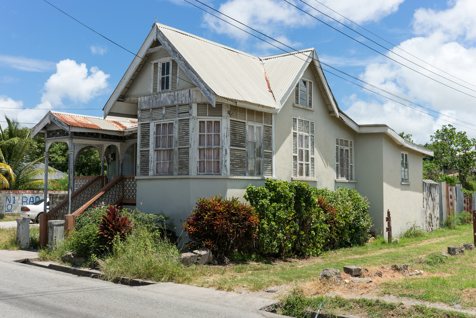
M 245 199 L 259 215 L 258 252 L 263 255 L 318 255 L 327 227 L 312 188 L 304 182 L 248 185 Z

